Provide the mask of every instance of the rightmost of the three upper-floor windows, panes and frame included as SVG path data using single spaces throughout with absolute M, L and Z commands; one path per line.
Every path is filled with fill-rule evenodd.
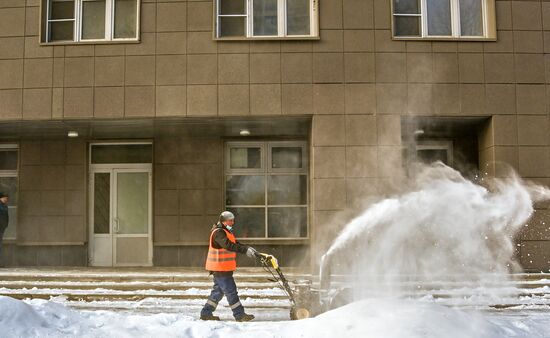
M 393 36 L 496 38 L 494 0 L 392 0 Z

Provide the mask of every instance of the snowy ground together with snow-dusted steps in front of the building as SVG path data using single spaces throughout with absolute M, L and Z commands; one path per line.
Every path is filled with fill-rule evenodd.
M 549 274 L 513 275 L 484 286 L 413 281 L 401 285 L 410 292 L 399 299 L 371 298 L 288 321 L 290 304 L 282 290 L 248 271 L 237 284 L 256 320 L 236 323 L 225 299 L 216 311 L 222 322 L 197 319 L 212 283 L 204 273 L 180 272 L 164 280 L 156 270 L 128 278 L 87 271 L 0 272 L 0 337 L 550 338 Z M 335 279 L 335 287 L 350 283 Z

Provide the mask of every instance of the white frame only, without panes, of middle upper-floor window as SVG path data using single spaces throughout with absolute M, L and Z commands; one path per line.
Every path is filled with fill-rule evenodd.
M 231 39 L 309 39 L 317 38 L 319 36 L 318 26 L 318 0 L 309 0 L 309 30 L 310 33 L 306 35 L 288 35 L 287 27 L 287 0 L 277 0 L 277 35 L 254 35 L 254 0 L 245 0 L 245 13 L 244 14 L 220 14 L 220 1 L 215 0 L 214 3 L 214 16 L 215 16 L 215 39 L 231 40 Z M 220 17 L 244 17 L 245 29 L 244 36 L 221 36 Z

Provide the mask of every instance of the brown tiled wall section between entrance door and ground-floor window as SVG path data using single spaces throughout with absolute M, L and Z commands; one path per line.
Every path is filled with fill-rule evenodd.
M 208 242 L 223 208 L 223 141 L 161 137 L 154 144 L 155 245 Z

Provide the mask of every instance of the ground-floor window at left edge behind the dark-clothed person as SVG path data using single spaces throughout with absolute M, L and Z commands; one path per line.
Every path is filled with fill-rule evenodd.
M 0 191 L 9 196 L 8 213 L 10 216 L 4 239 L 15 239 L 17 235 L 18 177 L 19 147 L 16 144 L 0 144 Z

